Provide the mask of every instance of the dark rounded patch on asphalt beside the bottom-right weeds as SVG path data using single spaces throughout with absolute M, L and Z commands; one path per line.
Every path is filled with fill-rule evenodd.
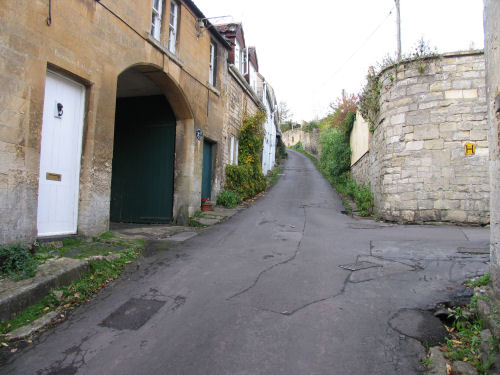
M 444 343 L 447 335 L 441 320 L 431 311 L 425 310 L 400 310 L 389 320 L 389 326 L 400 334 L 429 346 Z

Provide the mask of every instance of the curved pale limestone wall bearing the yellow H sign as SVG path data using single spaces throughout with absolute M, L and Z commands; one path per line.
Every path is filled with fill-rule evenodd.
M 376 213 L 397 222 L 488 223 L 483 53 L 407 61 L 383 71 L 381 82 L 369 153 Z M 475 155 L 465 155 L 466 144 Z

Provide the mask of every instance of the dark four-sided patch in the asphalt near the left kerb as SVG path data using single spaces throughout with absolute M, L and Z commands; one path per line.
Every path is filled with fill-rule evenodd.
M 101 326 L 119 330 L 137 330 L 164 304 L 165 301 L 131 298 L 104 319 Z

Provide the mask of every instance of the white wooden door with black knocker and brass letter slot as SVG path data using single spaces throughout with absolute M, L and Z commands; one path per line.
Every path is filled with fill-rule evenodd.
M 77 231 L 85 87 L 47 72 L 37 227 L 39 236 Z

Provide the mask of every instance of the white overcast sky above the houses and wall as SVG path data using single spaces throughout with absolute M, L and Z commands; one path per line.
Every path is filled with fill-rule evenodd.
M 394 0 L 194 0 L 211 22 L 242 22 L 259 72 L 297 122 L 324 117 L 342 90 L 395 56 Z M 400 0 L 403 54 L 423 38 L 437 52 L 482 49 L 483 0 Z

